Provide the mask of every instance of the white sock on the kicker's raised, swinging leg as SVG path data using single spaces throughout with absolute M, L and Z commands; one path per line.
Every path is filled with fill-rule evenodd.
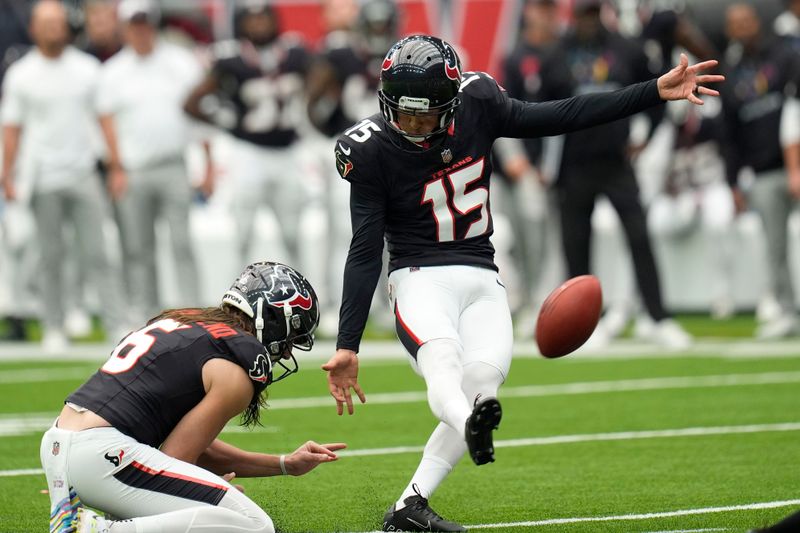
M 417 352 L 417 366 L 428 387 L 433 414 L 463 439 L 472 406 L 462 390 L 461 347 L 451 339 L 434 339 Z

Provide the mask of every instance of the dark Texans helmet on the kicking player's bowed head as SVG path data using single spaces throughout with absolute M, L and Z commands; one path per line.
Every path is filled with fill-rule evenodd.
M 419 142 L 447 131 L 461 104 L 461 60 L 452 46 L 429 35 L 412 35 L 389 49 L 381 66 L 378 89 L 381 115 L 395 132 Z M 410 136 L 397 114 L 438 113 L 438 126 L 424 136 Z

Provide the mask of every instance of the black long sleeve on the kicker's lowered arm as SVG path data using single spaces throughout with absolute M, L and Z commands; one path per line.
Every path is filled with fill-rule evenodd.
M 336 154 L 337 168 L 339 174 L 350 182 L 350 220 L 353 238 L 350 241 L 350 251 L 344 267 L 336 349 L 344 348 L 358 352 L 361 335 L 364 333 L 369 316 L 372 295 L 375 294 L 383 264 L 386 195 L 378 181 L 380 178 L 378 169 L 369 172 L 369 162 L 365 161 L 362 168 L 361 162 L 355 157 L 346 160 L 350 165 L 349 168 L 343 167 L 342 155 L 341 152 Z

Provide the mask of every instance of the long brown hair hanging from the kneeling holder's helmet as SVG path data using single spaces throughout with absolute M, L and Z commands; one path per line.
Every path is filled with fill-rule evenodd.
M 191 324 L 194 322 L 214 322 L 226 324 L 240 331 L 244 331 L 250 335 L 255 336 L 255 324 L 253 319 L 244 314 L 239 309 L 230 305 L 221 305 L 219 307 L 187 307 L 180 309 L 165 309 L 159 315 L 151 318 L 147 325 L 159 320 L 172 319 L 182 324 Z M 252 427 L 261 425 L 261 409 L 266 407 L 267 404 L 267 389 L 261 394 L 253 393 L 253 399 L 250 404 L 242 412 L 241 425 Z

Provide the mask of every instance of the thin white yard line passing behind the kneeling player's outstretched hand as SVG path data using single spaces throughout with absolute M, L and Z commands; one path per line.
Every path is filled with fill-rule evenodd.
M 784 431 L 800 431 L 800 422 L 787 422 L 784 424 L 752 424 L 747 426 L 717 426 L 717 427 L 659 429 L 659 430 L 648 430 L 648 431 L 620 431 L 616 433 L 586 433 L 579 435 L 554 435 L 551 437 L 532 437 L 526 439 L 498 440 L 494 442 L 494 445 L 495 448 L 518 448 L 523 446 L 549 446 L 552 444 L 574 444 L 580 442 L 664 439 L 673 437 L 704 437 L 710 435 L 738 435 L 743 433 L 769 433 L 769 432 L 784 432 Z M 398 455 L 402 453 L 419 453 L 422 451 L 422 448 L 423 448 L 422 446 L 394 446 L 391 448 L 365 448 L 363 450 L 344 450 L 339 452 L 338 455 L 340 457 Z M 29 476 L 41 473 L 43 473 L 41 469 L 0 470 L 0 477 Z

